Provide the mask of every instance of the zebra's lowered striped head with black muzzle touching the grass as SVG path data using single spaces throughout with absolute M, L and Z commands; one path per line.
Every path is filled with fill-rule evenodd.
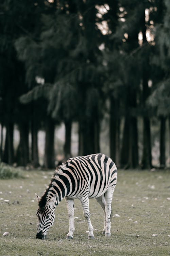
M 36 198 L 39 203 L 40 197 L 37 194 L 36 194 Z M 38 210 L 36 213 L 37 220 L 38 220 L 38 227 L 37 227 L 37 234 L 36 234 L 37 239 L 45 239 L 49 228 L 54 224 L 54 218 L 55 218 L 54 205 L 55 205 L 55 198 L 52 197 L 46 202 L 45 206 L 38 207 Z

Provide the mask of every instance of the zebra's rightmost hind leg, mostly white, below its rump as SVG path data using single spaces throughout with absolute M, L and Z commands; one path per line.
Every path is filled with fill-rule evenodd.
M 106 211 L 106 231 L 105 236 L 110 237 L 111 236 L 111 213 L 112 213 L 112 197 L 115 187 L 109 187 L 107 191 L 105 192 L 105 211 Z

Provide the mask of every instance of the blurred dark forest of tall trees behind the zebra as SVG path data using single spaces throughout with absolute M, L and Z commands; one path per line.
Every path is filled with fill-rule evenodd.
M 1 161 L 99 152 L 170 164 L 170 1 L 2 0 Z

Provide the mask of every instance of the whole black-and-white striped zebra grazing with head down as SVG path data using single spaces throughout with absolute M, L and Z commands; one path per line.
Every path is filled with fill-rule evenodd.
M 51 183 L 38 201 L 37 235 L 45 239 L 49 228 L 54 223 L 55 207 L 65 198 L 69 216 L 67 239 L 73 239 L 74 232 L 74 198 L 80 199 L 84 216 L 88 223 L 88 236 L 94 238 L 90 221 L 89 198 L 95 198 L 104 212 L 104 229 L 102 234 L 111 236 L 112 197 L 117 181 L 115 163 L 106 155 L 93 154 L 68 159 L 57 167 Z

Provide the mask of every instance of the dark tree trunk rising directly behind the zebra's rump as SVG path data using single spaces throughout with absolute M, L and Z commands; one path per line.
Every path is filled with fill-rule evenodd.
M 120 118 L 118 112 L 118 100 L 114 99 L 113 96 L 110 97 L 110 157 L 119 166 L 119 132 L 120 132 Z

